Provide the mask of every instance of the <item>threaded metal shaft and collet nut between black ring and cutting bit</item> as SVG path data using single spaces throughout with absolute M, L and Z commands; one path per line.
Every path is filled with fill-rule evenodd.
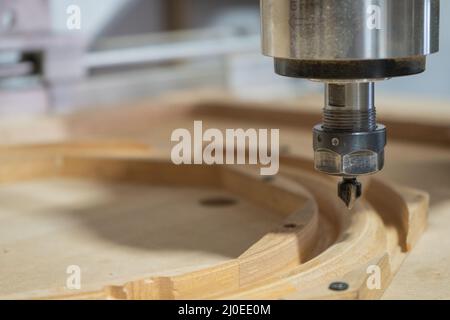
M 316 170 L 356 177 L 383 168 L 386 129 L 376 123 L 374 97 L 373 82 L 325 84 L 323 124 L 313 130 Z

